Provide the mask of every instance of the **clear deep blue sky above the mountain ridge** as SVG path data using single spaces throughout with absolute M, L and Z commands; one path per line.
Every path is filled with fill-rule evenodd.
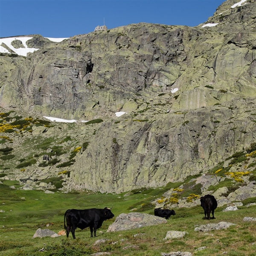
M 131 23 L 197 26 L 224 0 L 0 0 L 0 37 L 67 38 Z M 238 0 L 239 2 L 239 0 Z

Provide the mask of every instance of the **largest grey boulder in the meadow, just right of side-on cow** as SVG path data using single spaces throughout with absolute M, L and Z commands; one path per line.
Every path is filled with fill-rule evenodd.
M 147 213 L 130 212 L 121 213 L 116 220 L 108 227 L 107 232 L 131 230 L 139 227 L 146 227 L 167 223 L 166 219 Z

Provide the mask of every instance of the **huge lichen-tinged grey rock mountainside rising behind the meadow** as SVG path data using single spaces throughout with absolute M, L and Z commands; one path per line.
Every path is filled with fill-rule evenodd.
M 2 40 L 2 177 L 118 193 L 232 168 L 256 143 L 255 31 L 256 1 L 227 0 L 195 27 Z

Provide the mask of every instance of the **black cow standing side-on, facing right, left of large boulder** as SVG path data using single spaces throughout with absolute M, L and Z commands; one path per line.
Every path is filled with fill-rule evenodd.
M 90 237 L 93 237 L 93 231 L 94 237 L 96 237 L 96 230 L 102 226 L 103 221 L 114 217 L 110 209 L 107 207 L 104 209 L 92 208 L 85 210 L 68 209 L 64 215 L 64 228 L 67 231 L 67 237 L 71 231 L 73 239 L 76 239 L 75 230 L 77 227 L 81 228 L 81 230 L 90 227 Z M 65 219 L 67 220 L 67 227 Z

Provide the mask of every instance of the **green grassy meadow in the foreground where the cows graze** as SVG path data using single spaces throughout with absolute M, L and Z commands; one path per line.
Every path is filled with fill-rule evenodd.
M 131 212 L 154 214 L 150 204 L 160 197 L 166 188 L 148 189 L 122 194 L 87 194 L 83 192 L 46 194 L 38 190 L 18 189 L 17 181 L 1 180 L 0 184 L 0 255 L 21 256 L 80 256 L 98 252 L 108 252 L 113 256 L 157 256 L 169 252 L 191 252 L 196 256 L 255 256 L 256 222 L 244 222 L 243 218 L 256 218 L 256 207 L 238 207 L 238 211 L 222 212 L 218 207 L 215 219 L 204 219 L 202 207 L 175 209 L 176 215 L 167 224 L 142 227 L 134 230 L 107 233 L 108 226 L 116 216 Z M 15 186 L 11 189 L 9 186 Z M 25 198 L 25 199 L 22 199 Z M 247 200 L 248 201 L 248 200 Z M 251 198 L 255 202 L 256 198 Z M 32 239 L 38 228 L 56 233 L 64 230 L 64 212 L 67 209 L 113 207 L 115 217 L 104 221 L 97 230 L 97 237 L 90 238 L 90 230 L 76 230 L 76 240 L 71 234 L 57 238 L 45 237 Z M 195 232 L 201 224 L 228 221 L 236 224 L 226 230 L 213 230 L 207 233 Z M 46 225 L 49 224 L 49 227 Z M 182 239 L 164 240 L 167 231 L 186 231 Z M 139 234 L 134 237 L 135 234 Z M 98 239 L 110 239 L 104 244 L 94 245 Z M 44 251 L 39 251 L 44 247 Z M 206 247 L 204 250 L 196 250 Z M 225 253 L 225 254 L 223 254 Z

